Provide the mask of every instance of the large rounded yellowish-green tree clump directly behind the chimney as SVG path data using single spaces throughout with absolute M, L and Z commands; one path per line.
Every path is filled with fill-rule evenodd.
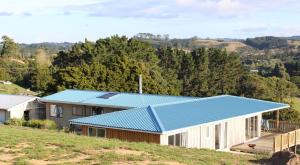
M 137 92 L 142 74 L 145 93 L 178 95 L 174 83 L 163 76 L 155 53 L 150 44 L 124 36 L 75 44 L 54 58 L 54 89 Z

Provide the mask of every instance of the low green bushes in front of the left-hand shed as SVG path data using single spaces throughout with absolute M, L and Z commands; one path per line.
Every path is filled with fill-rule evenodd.
M 39 129 L 57 129 L 57 125 L 52 120 L 29 120 L 25 121 L 24 119 L 10 119 L 5 122 L 7 125 L 14 125 L 14 126 L 27 126 L 32 128 L 39 128 Z

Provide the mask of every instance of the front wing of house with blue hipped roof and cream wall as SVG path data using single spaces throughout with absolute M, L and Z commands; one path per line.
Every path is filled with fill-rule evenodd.
M 134 100 L 113 103 L 130 102 Z M 70 125 L 87 136 L 228 150 L 261 136 L 262 113 L 286 108 L 289 105 L 230 95 L 183 98 L 150 101 L 123 111 L 76 118 L 70 120 Z

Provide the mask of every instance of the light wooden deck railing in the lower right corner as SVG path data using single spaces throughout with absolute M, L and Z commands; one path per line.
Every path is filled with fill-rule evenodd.
M 300 129 L 275 136 L 273 151 L 278 152 L 297 145 L 300 145 Z

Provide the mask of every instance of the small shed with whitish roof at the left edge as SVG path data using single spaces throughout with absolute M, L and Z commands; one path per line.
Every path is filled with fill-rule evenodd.
M 11 118 L 43 119 L 44 110 L 37 97 L 0 94 L 0 123 Z

